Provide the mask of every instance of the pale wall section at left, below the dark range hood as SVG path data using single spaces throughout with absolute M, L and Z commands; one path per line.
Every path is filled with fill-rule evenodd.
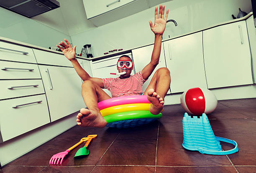
M 44 48 L 55 46 L 64 38 L 71 40 L 67 34 L 4 8 L 0 8 L 0 36 Z

